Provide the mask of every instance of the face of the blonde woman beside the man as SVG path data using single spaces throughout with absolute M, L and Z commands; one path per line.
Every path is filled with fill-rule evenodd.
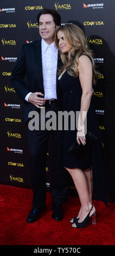
M 59 44 L 59 48 L 61 50 L 62 53 L 69 53 L 72 50 L 72 47 L 69 45 L 69 42 L 67 39 L 65 39 L 65 33 L 63 33 L 62 31 L 59 31 L 57 33 L 57 37 L 58 37 L 58 44 Z

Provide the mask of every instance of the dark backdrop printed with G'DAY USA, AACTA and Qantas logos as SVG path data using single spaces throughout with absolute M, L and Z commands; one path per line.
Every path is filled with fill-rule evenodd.
M 84 2 L 85 1 L 85 2 Z M 94 87 L 95 112 L 103 137 L 111 186 L 108 198 L 115 202 L 114 191 L 114 0 L 11 0 L 0 3 L 0 103 L 1 174 L 0 183 L 31 188 L 27 127 L 23 123 L 23 103 L 12 87 L 10 77 L 22 44 L 40 39 L 37 14 L 44 8 L 55 9 L 62 23 L 75 23 L 86 34 L 100 71 Z M 51 138 L 52 140 L 52 138 Z M 46 163 L 47 190 L 52 183 L 52 143 Z M 73 183 L 70 194 L 76 195 Z

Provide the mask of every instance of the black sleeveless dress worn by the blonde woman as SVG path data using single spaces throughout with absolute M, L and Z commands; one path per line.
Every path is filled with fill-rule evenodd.
M 78 77 L 68 75 L 66 71 L 59 80 L 62 91 L 62 111 L 80 111 L 82 88 Z M 98 141 L 79 157 L 68 153 L 68 148 L 76 139 L 76 128 L 71 130 L 71 119 L 69 118 L 68 130 L 63 131 L 63 166 L 68 168 L 80 168 L 82 170 L 92 167 L 93 170 L 93 193 L 94 199 L 102 200 L 107 204 L 106 199 L 106 165 L 104 163 L 103 144 L 97 115 L 95 113 L 93 95 L 90 107 L 87 112 L 87 130 L 98 137 Z

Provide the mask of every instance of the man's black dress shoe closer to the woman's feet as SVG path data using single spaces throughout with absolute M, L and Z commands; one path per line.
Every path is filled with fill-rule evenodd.
M 55 204 L 53 209 L 52 217 L 55 221 L 61 221 L 63 218 L 63 211 L 62 211 L 62 205 L 61 204 Z

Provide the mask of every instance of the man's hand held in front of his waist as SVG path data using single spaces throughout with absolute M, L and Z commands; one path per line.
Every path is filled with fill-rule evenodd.
M 28 101 L 30 103 L 32 103 L 34 106 L 36 106 L 37 108 L 43 108 L 43 105 L 46 103 L 46 101 L 48 99 L 38 97 L 37 95 L 43 96 L 44 94 L 42 94 L 42 93 L 31 93 L 29 98 L 28 98 Z

